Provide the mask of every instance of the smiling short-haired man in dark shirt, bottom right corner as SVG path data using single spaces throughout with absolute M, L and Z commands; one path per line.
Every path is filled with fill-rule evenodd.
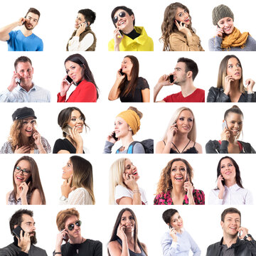
M 208 247 L 206 256 L 255 256 L 256 242 L 247 228 L 240 224 L 240 211 L 236 208 L 225 209 L 220 221 L 223 238 Z

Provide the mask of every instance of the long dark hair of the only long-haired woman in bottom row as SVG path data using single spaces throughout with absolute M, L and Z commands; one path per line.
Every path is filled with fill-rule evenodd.
M 133 210 L 130 209 L 130 208 L 124 208 L 124 209 L 120 210 L 119 214 L 117 215 L 117 220 L 114 223 L 114 228 L 113 228 L 113 231 L 112 231 L 110 242 L 116 241 L 116 240 L 119 239 L 119 237 L 117 236 L 117 228 L 119 227 L 122 215 L 123 215 L 123 213 L 126 210 L 128 210 L 132 214 L 132 217 L 134 218 L 134 252 L 136 252 L 136 247 L 137 247 L 137 245 L 139 245 L 139 247 L 142 247 L 142 249 L 144 250 L 145 255 L 147 256 L 146 250 L 145 250 L 145 246 L 141 242 L 139 242 L 139 238 L 138 238 L 138 224 L 137 224 L 136 215 L 133 212 Z M 107 248 L 107 254 L 109 256 L 111 256 L 110 255 L 110 251 L 108 250 L 108 248 Z

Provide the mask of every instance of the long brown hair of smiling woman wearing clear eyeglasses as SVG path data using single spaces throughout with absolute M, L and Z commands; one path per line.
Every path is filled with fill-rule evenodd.
M 43 193 L 43 186 L 41 184 L 38 166 L 36 164 L 36 161 L 30 156 L 22 156 L 20 159 L 18 159 L 16 161 L 16 164 L 14 165 L 14 171 L 15 171 L 18 163 L 22 160 L 28 161 L 30 164 L 31 181 L 29 182 L 29 186 L 28 186 L 28 194 L 32 194 L 33 191 L 38 189 L 39 193 L 40 193 L 40 197 L 41 197 L 41 203 L 42 203 L 42 205 L 45 205 L 46 197 Z M 16 201 L 17 187 L 16 187 L 16 183 L 14 181 L 14 175 L 13 175 L 13 184 L 14 184 L 14 190 L 11 193 L 14 195 L 14 200 Z

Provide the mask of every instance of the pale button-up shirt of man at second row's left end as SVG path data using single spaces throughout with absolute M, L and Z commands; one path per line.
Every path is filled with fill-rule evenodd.
M 50 102 L 50 92 L 34 83 L 28 92 L 18 85 L 11 92 L 8 89 L 1 92 L 0 102 Z

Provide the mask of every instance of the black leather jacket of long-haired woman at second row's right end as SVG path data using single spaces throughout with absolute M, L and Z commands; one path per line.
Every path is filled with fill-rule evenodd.
M 228 95 L 225 95 L 223 88 L 210 87 L 207 102 L 231 102 L 231 100 Z M 238 102 L 256 102 L 255 92 L 252 94 L 242 93 Z

